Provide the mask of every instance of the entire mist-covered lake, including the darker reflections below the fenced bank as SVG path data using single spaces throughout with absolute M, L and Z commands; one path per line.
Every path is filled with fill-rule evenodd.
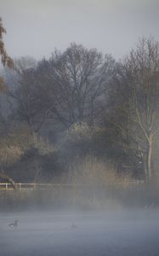
M 158 189 L 154 186 L 58 186 L 8 190 L 2 195 L 2 256 L 159 254 Z

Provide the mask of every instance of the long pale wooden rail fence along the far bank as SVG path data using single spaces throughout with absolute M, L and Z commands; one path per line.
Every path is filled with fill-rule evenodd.
M 145 181 L 143 180 L 133 180 L 133 181 L 125 181 L 122 183 L 111 183 L 111 184 L 94 184 L 96 187 L 105 187 L 107 185 L 120 185 L 123 186 L 133 186 L 133 185 L 139 185 L 144 184 Z M 90 185 L 90 186 L 93 186 Z M 88 187 L 88 184 L 68 184 L 68 183 L 16 183 L 16 189 L 55 189 L 55 188 L 83 188 Z M 9 190 L 14 189 L 13 185 L 11 183 L 0 183 L 0 190 Z

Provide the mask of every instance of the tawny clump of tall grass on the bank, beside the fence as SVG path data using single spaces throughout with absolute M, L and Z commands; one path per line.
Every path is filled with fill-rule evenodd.
M 68 183 L 110 185 L 120 183 L 125 186 L 131 180 L 130 175 L 119 175 L 111 161 L 104 161 L 88 155 L 83 159 L 76 158 L 63 180 Z

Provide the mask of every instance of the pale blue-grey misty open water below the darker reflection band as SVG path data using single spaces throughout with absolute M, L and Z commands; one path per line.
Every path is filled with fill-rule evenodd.
M 0 255 L 158 256 L 159 211 L 3 212 Z

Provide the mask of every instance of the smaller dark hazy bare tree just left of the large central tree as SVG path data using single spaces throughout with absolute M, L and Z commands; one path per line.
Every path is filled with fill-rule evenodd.
M 14 106 L 14 118 L 26 122 L 31 131 L 37 132 L 43 125 L 43 102 L 39 99 L 36 68 L 22 68 L 19 70 L 19 81 L 14 90 L 9 90 Z

